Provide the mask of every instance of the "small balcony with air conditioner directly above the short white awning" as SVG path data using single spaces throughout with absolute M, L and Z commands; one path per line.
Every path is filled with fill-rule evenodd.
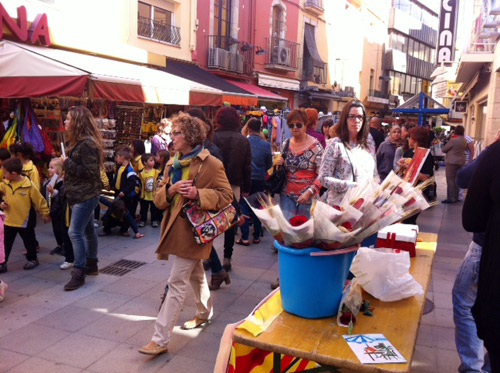
M 266 38 L 267 54 L 265 67 L 267 69 L 297 71 L 299 43 L 276 37 Z

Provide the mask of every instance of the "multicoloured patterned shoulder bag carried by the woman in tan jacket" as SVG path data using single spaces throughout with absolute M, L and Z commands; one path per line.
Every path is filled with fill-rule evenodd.
M 193 185 L 200 173 L 193 179 Z M 219 211 L 202 210 L 197 201 L 189 200 L 182 206 L 182 217 L 186 218 L 193 230 L 198 245 L 212 242 L 217 236 L 232 228 L 239 220 L 236 208 L 229 204 Z

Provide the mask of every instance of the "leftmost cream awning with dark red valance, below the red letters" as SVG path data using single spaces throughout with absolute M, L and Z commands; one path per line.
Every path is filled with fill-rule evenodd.
M 81 96 L 88 74 L 0 41 L 0 97 Z

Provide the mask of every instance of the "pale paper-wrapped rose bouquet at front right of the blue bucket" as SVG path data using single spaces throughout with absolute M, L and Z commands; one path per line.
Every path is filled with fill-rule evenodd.
M 352 208 L 352 206 L 349 207 Z M 348 224 L 345 222 L 340 223 L 340 219 L 344 219 L 344 211 L 331 207 L 321 201 L 313 203 L 311 215 L 314 220 L 315 245 L 323 250 L 334 250 L 342 247 L 345 242 L 349 241 L 360 231 L 359 229 L 350 231 L 346 228 Z

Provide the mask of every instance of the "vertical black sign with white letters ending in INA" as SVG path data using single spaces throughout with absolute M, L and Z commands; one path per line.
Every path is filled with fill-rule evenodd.
M 455 54 L 455 33 L 458 0 L 441 0 L 437 62 L 452 63 Z

